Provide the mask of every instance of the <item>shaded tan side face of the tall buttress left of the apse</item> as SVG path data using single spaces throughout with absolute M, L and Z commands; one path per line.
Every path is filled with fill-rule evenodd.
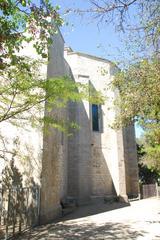
M 61 34 L 53 38 L 53 45 L 49 49 L 50 58 L 47 77 L 61 77 L 66 75 L 64 62 L 64 40 Z M 54 119 L 67 119 L 66 109 L 53 109 L 45 115 Z M 61 199 L 67 194 L 67 138 L 60 131 L 50 127 L 43 137 L 43 158 L 41 177 L 41 211 L 40 222 L 49 222 L 61 215 Z

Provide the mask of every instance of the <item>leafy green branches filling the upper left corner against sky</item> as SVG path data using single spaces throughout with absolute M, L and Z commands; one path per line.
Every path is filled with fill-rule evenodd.
M 52 42 L 51 35 L 63 23 L 57 10 L 58 7 L 53 7 L 48 0 L 43 0 L 43 5 L 31 0 L 1 0 L 0 69 L 16 64 L 28 67 L 27 62 L 17 54 L 25 42 L 34 40 L 37 53 L 47 57 L 46 49 Z

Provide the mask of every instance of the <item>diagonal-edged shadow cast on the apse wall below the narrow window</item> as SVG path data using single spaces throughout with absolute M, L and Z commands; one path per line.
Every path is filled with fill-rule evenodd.
M 85 80 L 87 76 L 83 76 Z M 72 76 L 73 79 L 73 76 Z M 92 92 L 96 92 L 93 84 Z M 69 120 L 76 122 L 80 129 L 68 140 L 68 196 L 89 199 L 91 196 L 116 196 L 114 181 L 104 156 L 102 146 L 103 115 L 99 119 L 99 131 L 92 129 L 92 104 L 85 101 L 69 103 Z M 89 111 L 87 113 L 87 111 Z M 89 116 L 88 116 L 89 115 Z M 114 159 L 112 159 L 114 160 Z M 81 204 L 81 203 L 80 203 Z

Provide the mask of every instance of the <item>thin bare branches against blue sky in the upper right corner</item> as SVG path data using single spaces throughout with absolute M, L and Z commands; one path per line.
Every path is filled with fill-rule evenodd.
M 131 41 L 129 46 L 132 50 L 133 46 L 137 45 L 144 55 L 159 53 L 158 0 L 90 0 L 90 3 L 93 7 L 88 12 L 93 14 L 98 23 L 112 24 L 116 31 L 123 31 L 125 34 L 129 32 Z

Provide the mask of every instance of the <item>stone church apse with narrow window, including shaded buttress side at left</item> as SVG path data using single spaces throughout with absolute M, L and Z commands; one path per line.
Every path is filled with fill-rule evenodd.
M 138 195 L 134 127 L 118 131 L 110 127 L 116 93 L 107 84 L 115 71 L 106 59 L 64 48 L 60 33 L 54 37 L 47 77 L 68 75 L 75 82 L 91 84 L 106 101 L 103 105 L 70 102 L 67 109 L 53 109 L 51 114 L 76 122 L 80 129 L 70 137 L 54 129 L 43 136 L 41 222 L 59 216 L 60 203 L 66 199 L 80 205 L 114 196 L 127 201 L 128 196 Z

